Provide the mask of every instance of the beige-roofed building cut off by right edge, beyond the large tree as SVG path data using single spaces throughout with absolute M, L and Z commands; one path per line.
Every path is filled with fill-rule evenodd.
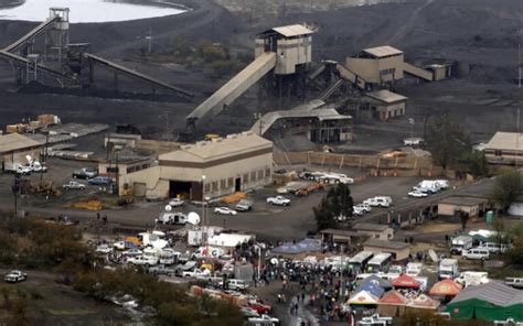
M 523 134 L 498 131 L 484 148 L 489 164 L 514 165 L 523 163 Z

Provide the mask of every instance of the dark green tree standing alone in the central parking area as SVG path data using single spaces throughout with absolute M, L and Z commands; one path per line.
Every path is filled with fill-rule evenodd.
M 318 230 L 335 227 L 338 216 L 352 217 L 353 205 L 351 189 L 348 185 L 339 184 L 329 188 L 320 205 L 312 208 Z

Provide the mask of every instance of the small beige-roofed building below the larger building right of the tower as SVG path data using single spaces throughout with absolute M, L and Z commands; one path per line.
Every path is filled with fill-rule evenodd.
M 386 89 L 366 93 L 362 98 L 362 115 L 388 120 L 405 116 L 407 98 Z

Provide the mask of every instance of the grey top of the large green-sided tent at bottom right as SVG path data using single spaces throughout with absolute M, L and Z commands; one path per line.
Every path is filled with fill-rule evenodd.
M 487 284 L 469 286 L 461 290 L 449 305 L 472 298 L 506 307 L 523 304 L 523 291 L 513 289 L 498 281 L 491 281 Z

